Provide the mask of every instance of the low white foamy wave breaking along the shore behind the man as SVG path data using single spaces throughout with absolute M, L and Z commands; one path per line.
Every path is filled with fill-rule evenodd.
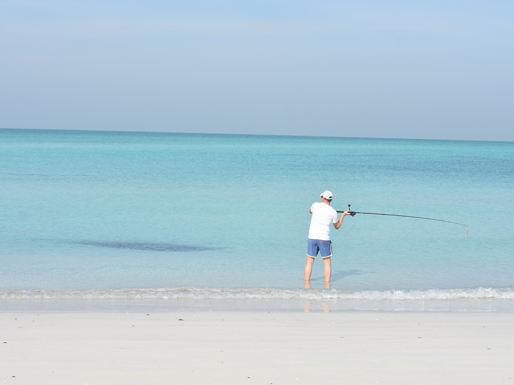
M 0 290 L 0 300 L 372 300 L 372 301 L 430 301 L 430 300 L 514 300 L 514 288 L 453 289 L 453 290 L 390 290 L 337 291 L 321 289 L 234 288 L 234 287 L 153 287 L 120 288 L 113 290 Z

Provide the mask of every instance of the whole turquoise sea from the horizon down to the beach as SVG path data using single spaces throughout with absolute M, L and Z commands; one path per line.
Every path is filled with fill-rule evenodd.
M 346 217 L 331 230 L 332 287 L 320 258 L 304 288 L 325 189 L 337 210 L 467 227 Z M 0 311 L 514 311 L 513 234 L 510 142 L 0 129 Z

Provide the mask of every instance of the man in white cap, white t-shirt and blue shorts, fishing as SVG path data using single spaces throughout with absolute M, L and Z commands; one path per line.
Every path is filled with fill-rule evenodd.
M 305 281 L 310 280 L 310 273 L 313 269 L 314 259 L 318 252 L 325 264 L 325 282 L 330 282 L 332 277 L 332 242 L 330 240 L 330 224 L 338 229 L 343 224 L 343 218 L 350 214 L 350 210 L 344 211 L 341 218 L 337 219 L 337 211 L 330 203 L 332 202 L 332 192 L 324 191 L 321 195 L 321 202 L 315 202 L 310 206 L 309 213 L 313 216 L 310 219 L 309 238 L 307 239 L 307 264 L 305 265 Z

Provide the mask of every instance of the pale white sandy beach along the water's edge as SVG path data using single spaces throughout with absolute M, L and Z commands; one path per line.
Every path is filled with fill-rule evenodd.
M 8 384 L 514 383 L 514 314 L 2 313 Z

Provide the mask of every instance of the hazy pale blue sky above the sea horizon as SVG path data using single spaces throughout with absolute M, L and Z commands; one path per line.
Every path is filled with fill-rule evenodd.
M 512 1 L 0 2 L 0 127 L 514 141 Z

